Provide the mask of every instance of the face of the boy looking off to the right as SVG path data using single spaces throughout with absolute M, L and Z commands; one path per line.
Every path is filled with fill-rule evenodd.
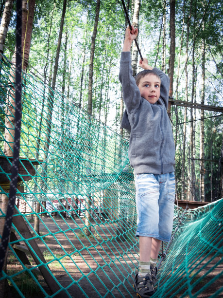
M 160 79 L 153 74 L 142 77 L 139 81 L 138 88 L 143 98 L 154 104 L 160 95 Z

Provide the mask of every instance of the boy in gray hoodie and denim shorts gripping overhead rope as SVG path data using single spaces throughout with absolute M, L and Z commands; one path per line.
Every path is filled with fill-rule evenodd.
M 140 60 L 144 69 L 132 76 L 130 48 L 137 29 L 125 31 L 119 79 L 126 111 L 122 127 L 131 131 L 129 160 L 135 172 L 139 272 L 134 287 L 139 297 L 154 294 L 156 261 L 161 241 L 172 233 L 175 199 L 175 148 L 167 114 L 170 79 Z

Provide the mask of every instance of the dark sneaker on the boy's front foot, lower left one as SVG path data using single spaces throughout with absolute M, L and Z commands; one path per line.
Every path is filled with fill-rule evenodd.
M 149 273 L 147 273 L 145 277 L 140 277 L 137 274 L 133 287 L 135 288 L 137 297 L 139 298 L 146 298 L 152 296 L 155 293 L 153 280 Z

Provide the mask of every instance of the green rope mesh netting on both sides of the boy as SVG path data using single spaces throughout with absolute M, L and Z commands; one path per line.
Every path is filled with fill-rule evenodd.
M 5 129 L 13 135 L 5 118 L 12 121 L 7 98 L 14 93 L 14 82 L 9 82 L 13 68 L 2 63 L 0 73 L 0 158 L 7 165 L 12 157 L 3 148 L 12 146 L 5 139 Z M 135 297 L 139 245 L 128 142 L 28 74 L 23 77 L 22 106 L 14 217 L 19 216 L 32 237 L 13 224 L 16 238 L 10 238 L 7 271 L 0 280 L 7 279 L 15 297 Z M 8 196 L 9 181 L 10 172 L 1 162 L 1 202 Z M 32 215 L 39 220 L 39 234 Z M 0 219 L 4 217 L 1 207 Z M 154 297 L 221 297 L 222 218 L 223 200 L 186 211 L 175 206 L 174 236 L 158 271 Z M 24 264 L 15 245 L 28 247 L 39 263 L 27 254 L 31 265 Z M 36 273 L 41 266 L 58 290 L 52 292 Z

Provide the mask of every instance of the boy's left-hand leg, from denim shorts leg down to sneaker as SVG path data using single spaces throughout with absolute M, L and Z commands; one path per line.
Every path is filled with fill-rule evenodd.
M 137 295 L 154 294 L 150 270 L 152 238 L 159 234 L 159 183 L 154 174 L 137 174 L 136 179 L 137 233 L 139 236 L 139 273 L 134 286 Z

